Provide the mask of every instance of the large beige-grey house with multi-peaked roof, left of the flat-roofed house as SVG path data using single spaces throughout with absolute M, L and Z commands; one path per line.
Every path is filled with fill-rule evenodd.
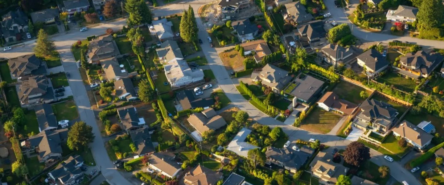
M 288 71 L 268 63 L 262 67 L 262 71 L 254 71 L 251 74 L 251 81 L 262 82 L 263 86 L 270 87 L 275 93 L 281 92 L 291 79 Z

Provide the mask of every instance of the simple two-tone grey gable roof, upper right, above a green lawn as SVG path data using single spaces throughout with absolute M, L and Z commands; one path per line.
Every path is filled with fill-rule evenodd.
M 378 71 L 389 65 L 387 60 L 385 60 L 385 57 L 383 57 L 379 51 L 373 48 L 365 51 L 361 55 L 358 55 L 356 58 L 364 62 L 365 66 L 373 71 Z

